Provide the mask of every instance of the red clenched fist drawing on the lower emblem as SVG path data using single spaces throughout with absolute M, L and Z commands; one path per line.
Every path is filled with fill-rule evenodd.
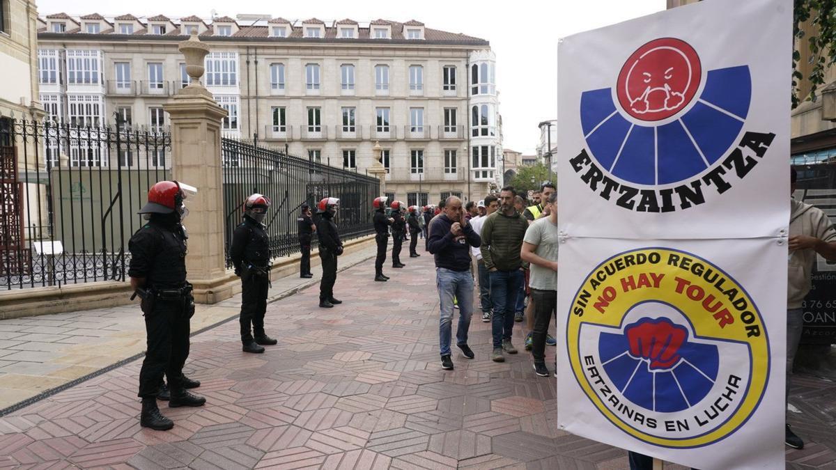
M 643 318 L 624 329 L 630 355 L 650 362 L 650 370 L 670 369 L 681 359 L 679 350 L 688 338 L 688 330 L 670 319 Z

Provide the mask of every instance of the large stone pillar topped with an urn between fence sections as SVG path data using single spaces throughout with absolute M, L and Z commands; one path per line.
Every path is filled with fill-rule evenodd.
M 196 302 L 213 304 L 232 295 L 219 295 L 215 289 L 228 280 L 221 160 L 221 123 L 227 111 L 199 82 L 209 48 L 192 35 L 180 43 L 180 51 L 186 56 L 191 83 L 163 106 L 171 116 L 171 175 L 197 188 L 197 195 L 186 199 L 186 270 Z

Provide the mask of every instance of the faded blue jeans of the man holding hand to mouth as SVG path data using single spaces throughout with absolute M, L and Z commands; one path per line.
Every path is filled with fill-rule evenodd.
M 459 304 L 459 326 L 456 329 L 456 345 L 467 344 L 467 330 L 473 314 L 473 277 L 470 269 L 453 271 L 436 268 L 436 288 L 441 299 L 441 318 L 438 322 L 438 342 L 441 355 L 450 354 L 453 323 L 453 296 Z

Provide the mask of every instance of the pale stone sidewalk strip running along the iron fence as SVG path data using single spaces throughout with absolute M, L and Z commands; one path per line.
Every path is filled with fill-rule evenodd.
M 340 258 L 342 266 L 375 256 L 374 244 Z M 319 284 L 293 273 L 273 280 L 272 299 Z M 236 316 L 241 295 L 214 305 L 196 306 L 191 330 L 198 331 Z M 0 410 L 116 364 L 145 350 L 145 323 L 136 305 L 67 314 L 0 320 Z

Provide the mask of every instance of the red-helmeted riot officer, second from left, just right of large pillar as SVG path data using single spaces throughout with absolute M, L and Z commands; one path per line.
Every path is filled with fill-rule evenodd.
M 244 221 L 232 232 L 229 257 L 235 273 L 241 277 L 241 343 L 248 353 L 263 353 L 261 345 L 275 345 L 264 333 L 264 314 L 267 312 L 267 294 L 270 286 L 270 238 L 265 231 L 264 217 L 270 207 L 270 199 L 252 194 L 244 202 Z M 251 330 L 252 327 L 252 330 Z

